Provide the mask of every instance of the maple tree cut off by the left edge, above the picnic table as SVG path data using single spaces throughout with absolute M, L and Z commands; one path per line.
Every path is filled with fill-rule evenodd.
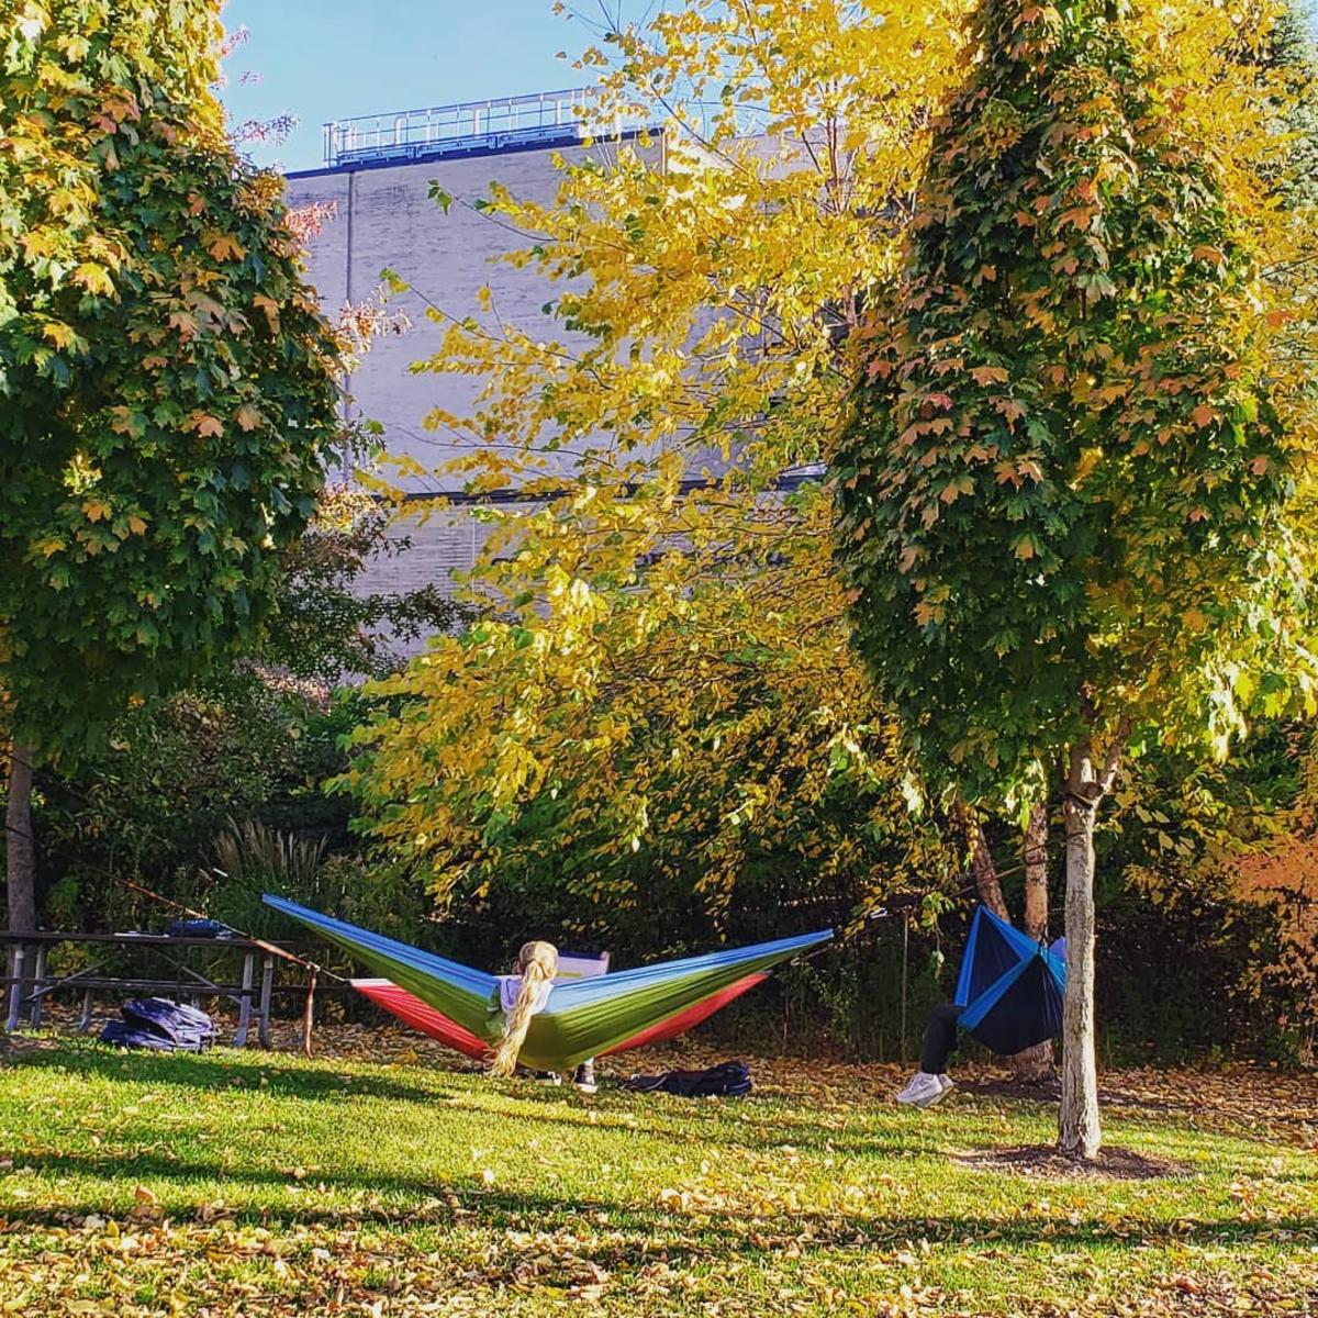
M 219 5 L 0 17 L 0 687 L 9 920 L 34 759 L 253 634 L 340 440 L 340 340 L 211 87 Z

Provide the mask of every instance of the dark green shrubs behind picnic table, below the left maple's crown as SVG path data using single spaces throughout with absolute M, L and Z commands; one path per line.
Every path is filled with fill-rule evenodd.
M 253 672 L 125 714 L 75 772 L 40 775 L 46 923 L 161 928 L 170 911 L 127 878 L 258 936 L 303 938 L 262 905 L 275 891 L 427 942 L 422 886 L 352 855 L 345 803 L 320 789 L 358 717 L 352 691 L 327 701 Z

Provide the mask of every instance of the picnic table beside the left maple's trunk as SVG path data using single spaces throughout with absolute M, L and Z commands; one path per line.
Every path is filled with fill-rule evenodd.
M 100 974 L 100 962 L 92 962 L 80 970 L 66 975 L 50 975 L 47 958 L 51 948 L 61 944 L 92 946 L 111 950 L 150 952 L 157 960 L 174 967 L 174 978 L 145 978 Z M 228 998 L 237 1004 L 239 1024 L 233 1033 L 233 1046 L 244 1048 L 252 1025 L 253 999 L 257 1015 L 257 1040 L 262 1048 L 270 1046 L 270 999 L 274 994 L 304 994 L 302 985 L 274 983 L 274 953 L 270 944 L 252 938 L 215 938 L 196 934 L 169 933 L 0 933 L 0 946 L 8 948 L 8 974 L 3 983 L 8 990 L 8 1012 L 5 1031 L 12 1033 L 24 1016 L 33 1027 L 41 1025 L 42 1007 L 46 998 L 62 990 L 78 990 L 83 994 L 83 1010 L 78 1028 L 86 1032 L 91 1027 L 92 996 L 96 992 L 146 992 L 154 995 L 173 994 L 185 998 Z M 285 944 L 274 944 L 285 946 Z M 243 974 L 237 985 L 223 985 L 186 965 L 183 957 L 190 949 L 206 948 L 208 952 L 231 952 L 243 954 Z M 104 956 L 103 953 L 103 956 Z M 256 986 L 256 963 L 261 958 L 261 983 Z M 3 1000 L 3 999 L 0 999 Z

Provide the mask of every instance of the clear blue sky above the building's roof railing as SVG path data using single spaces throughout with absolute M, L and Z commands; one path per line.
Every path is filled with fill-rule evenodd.
M 262 165 L 320 165 L 330 119 L 576 87 L 589 79 L 556 59 L 592 34 L 551 12 L 552 0 L 229 0 L 224 22 L 249 40 L 228 61 L 224 100 L 237 120 L 301 120 Z M 589 3 L 583 8 L 589 9 Z M 613 5 L 610 4 L 610 8 Z M 260 80 L 241 82 L 243 74 Z

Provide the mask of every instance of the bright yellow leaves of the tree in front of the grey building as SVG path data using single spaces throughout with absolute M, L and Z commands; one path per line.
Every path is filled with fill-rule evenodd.
M 863 760 L 876 728 L 895 754 L 847 643 L 826 461 L 867 297 L 902 260 L 929 125 L 974 58 L 965 11 L 695 0 L 662 12 L 580 62 L 601 70 L 592 162 L 561 162 L 547 202 L 498 186 L 484 199 L 493 223 L 535 235 L 501 260 L 543 277 L 564 333 L 434 307 L 445 330 L 422 368 L 469 377 L 477 394 L 467 415 L 426 424 L 464 444 L 443 484 L 519 486 L 540 502 L 485 510 L 467 584 L 498 621 L 374 688 L 389 712 L 345 779 L 377 838 L 440 888 L 497 862 L 510 821 L 580 783 L 590 791 L 555 825 L 564 840 L 621 853 L 680 830 L 692 805 L 675 784 L 699 764 L 726 805 L 708 857 L 726 894 L 747 817 L 779 811 L 786 826 L 793 793 L 822 791 L 837 747 Z M 1301 232 L 1269 200 L 1278 101 L 1238 58 L 1271 13 L 1189 0 L 1123 21 L 1248 216 L 1248 240 L 1284 261 Z M 662 128 L 618 141 L 619 120 Z M 1256 299 L 1260 351 L 1296 331 L 1275 316 L 1281 297 Z M 950 428 L 933 415 L 940 397 L 929 432 Z M 998 410 L 1016 423 L 1010 398 Z M 1298 402 L 1293 415 L 1300 443 Z M 1010 464 L 996 478 L 1039 473 Z M 944 498 L 973 488 L 962 476 Z M 1033 542 L 1016 552 L 1031 558 Z M 759 702 L 742 708 L 747 691 Z M 801 730 L 782 746 L 793 774 L 771 788 L 738 779 L 774 720 Z

